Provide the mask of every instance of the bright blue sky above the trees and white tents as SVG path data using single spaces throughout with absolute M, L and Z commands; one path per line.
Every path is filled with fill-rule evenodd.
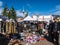
M 6 4 L 9 9 L 14 6 L 17 15 L 21 13 L 23 7 L 30 15 L 60 14 L 60 0 L 0 0 L 0 13 Z

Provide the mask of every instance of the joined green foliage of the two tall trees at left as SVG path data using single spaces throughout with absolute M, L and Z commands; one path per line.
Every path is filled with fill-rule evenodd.
M 5 6 L 2 14 L 3 14 L 3 16 L 7 16 L 9 19 L 12 18 L 12 19 L 16 20 L 16 12 L 13 7 L 10 10 L 8 10 L 8 7 Z

